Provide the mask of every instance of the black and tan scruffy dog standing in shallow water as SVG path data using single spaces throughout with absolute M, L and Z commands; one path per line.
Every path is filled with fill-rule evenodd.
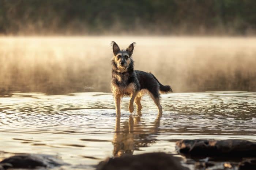
M 134 70 L 132 53 L 135 43 L 131 43 L 125 50 L 120 50 L 116 42 L 111 42 L 113 48 L 112 79 L 111 88 L 116 104 L 116 114 L 121 115 L 121 98 L 125 95 L 131 96 L 129 101 L 129 112 L 134 111 L 133 102 L 137 106 L 137 113 L 141 113 L 142 105 L 140 100 L 144 94 L 148 94 L 155 102 L 158 113 L 162 114 L 160 94 L 172 92 L 170 86 L 162 85 L 150 72 Z

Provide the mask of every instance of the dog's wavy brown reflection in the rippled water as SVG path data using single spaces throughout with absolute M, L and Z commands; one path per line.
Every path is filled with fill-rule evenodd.
M 124 154 L 133 154 L 134 150 L 146 147 L 155 142 L 152 134 L 158 133 L 158 127 L 162 114 L 158 114 L 150 126 L 140 122 L 141 114 L 130 115 L 129 120 L 120 126 L 120 116 L 116 116 L 116 128 L 113 139 L 113 156 L 120 157 Z

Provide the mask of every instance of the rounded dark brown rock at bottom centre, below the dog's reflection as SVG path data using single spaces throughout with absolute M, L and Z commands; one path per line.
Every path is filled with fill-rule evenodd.
M 180 159 L 165 153 L 123 155 L 109 158 L 97 166 L 97 170 L 189 170 L 181 166 Z

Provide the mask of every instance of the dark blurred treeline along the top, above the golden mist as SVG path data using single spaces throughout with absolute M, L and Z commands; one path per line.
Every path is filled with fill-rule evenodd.
M 0 0 L 0 34 L 255 35 L 256 0 Z

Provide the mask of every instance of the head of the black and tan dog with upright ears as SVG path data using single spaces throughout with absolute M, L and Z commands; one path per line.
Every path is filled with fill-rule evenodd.
M 117 43 L 112 41 L 114 54 L 113 60 L 116 63 L 118 70 L 126 70 L 131 64 L 131 56 L 134 49 L 134 44 L 135 43 L 131 43 L 125 50 L 120 50 Z

